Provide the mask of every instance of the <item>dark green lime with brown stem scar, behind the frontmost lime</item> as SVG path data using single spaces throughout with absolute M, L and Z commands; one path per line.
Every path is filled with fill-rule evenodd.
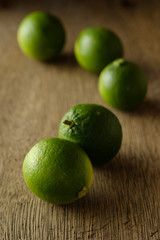
M 63 116 L 59 137 L 79 144 L 93 165 L 101 165 L 118 153 L 122 129 L 118 118 L 105 107 L 80 104 Z

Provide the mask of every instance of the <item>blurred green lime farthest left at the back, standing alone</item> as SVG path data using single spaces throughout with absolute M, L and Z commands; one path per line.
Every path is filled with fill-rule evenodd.
M 17 39 L 26 55 L 46 61 L 54 59 L 61 52 L 65 43 L 65 31 L 57 17 L 38 11 L 22 20 Z

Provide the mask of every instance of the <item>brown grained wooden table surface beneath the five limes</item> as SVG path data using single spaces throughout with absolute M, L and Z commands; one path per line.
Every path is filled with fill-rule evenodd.
M 19 1 L 0 8 L 0 240 L 160 239 L 160 2 Z M 64 23 L 67 42 L 57 61 L 45 64 L 20 51 L 16 31 L 35 10 L 49 10 Z M 104 26 L 122 39 L 125 58 L 148 78 L 144 103 L 133 112 L 101 99 L 98 76 L 73 57 L 79 32 Z M 79 103 L 111 109 L 123 126 L 119 154 L 94 169 L 87 196 L 57 206 L 35 197 L 22 164 L 38 141 L 58 136 L 63 114 Z

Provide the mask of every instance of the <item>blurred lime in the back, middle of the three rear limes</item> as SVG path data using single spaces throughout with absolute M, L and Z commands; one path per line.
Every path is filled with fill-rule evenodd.
M 111 30 L 91 27 L 80 33 L 74 52 L 81 67 L 100 73 L 107 64 L 122 57 L 123 46 L 119 37 Z

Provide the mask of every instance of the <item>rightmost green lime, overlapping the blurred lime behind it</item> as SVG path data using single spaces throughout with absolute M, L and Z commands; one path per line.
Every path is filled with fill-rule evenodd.
M 99 77 L 99 92 L 112 107 L 131 110 L 144 99 L 147 80 L 135 64 L 117 59 L 104 68 Z

